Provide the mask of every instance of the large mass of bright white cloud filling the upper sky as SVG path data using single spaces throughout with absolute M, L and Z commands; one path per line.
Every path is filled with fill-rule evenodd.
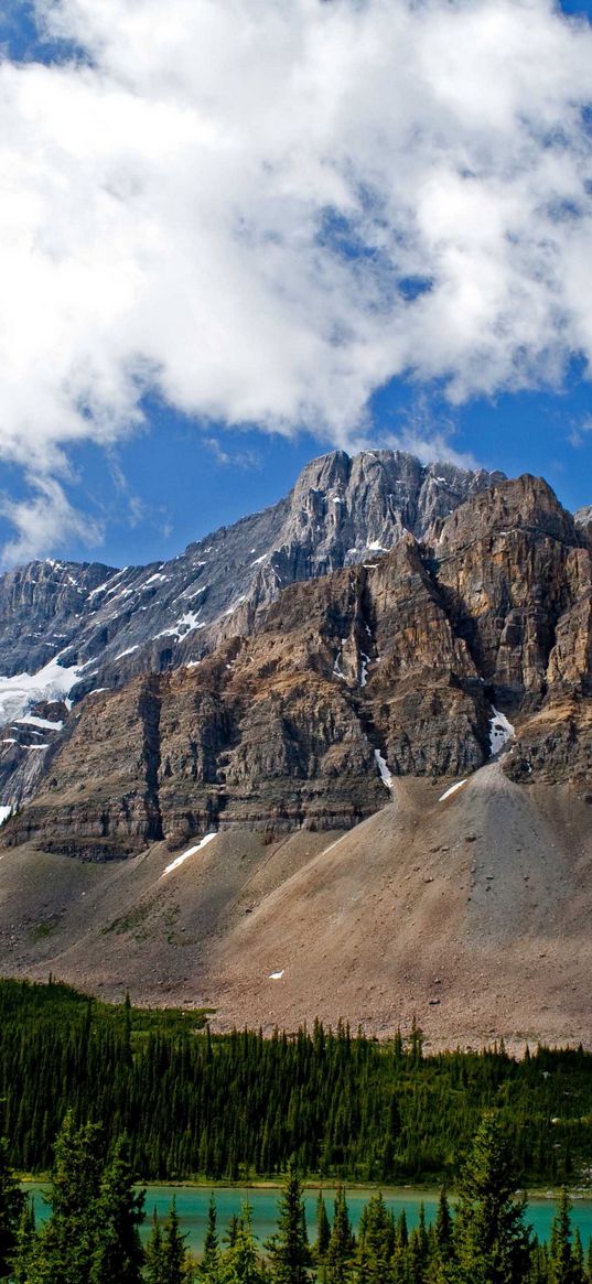
M 591 360 L 584 21 L 550 0 L 36 13 L 74 53 L 0 64 L 0 456 L 35 511 L 68 446 L 112 447 L 146 392 L 347 446 L 396 375 L 461 402 Z

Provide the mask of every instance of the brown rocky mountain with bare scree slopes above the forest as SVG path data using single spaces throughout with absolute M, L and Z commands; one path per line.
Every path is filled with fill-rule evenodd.
M 54 704 L 19 724 L 46 747 L 18 750 L 44 767 L 1 831 L 0 966 L 205 1003 L 220 1027 L 415 1013 L 435 1041 L 592 1041 L 587 525 L 542 479 L 482 475 L 381 533 L 356 510 L 356 543 L 333 526 L 342 467 L 348 512 L 371 508 L 366 457 L 316 461 L 284 501 L 293 582 L 257 597 L 249 568 L 244 610 L 191 630 L 199 657 L 187 639 L 150 668 L 139 645 L 141 672 L 68 695 L 54 656 Z

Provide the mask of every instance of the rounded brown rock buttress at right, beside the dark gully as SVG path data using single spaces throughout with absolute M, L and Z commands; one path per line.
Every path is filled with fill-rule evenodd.
M 582 543 L 551 488 L 530 476 L 479 496 L 435 532 L 453 628 L 502 701 L 544 696 L 559 621 L 579 602 L 589 565 Z

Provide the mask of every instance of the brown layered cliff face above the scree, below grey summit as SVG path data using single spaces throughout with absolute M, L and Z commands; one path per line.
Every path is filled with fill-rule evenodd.
M 497 709 L 514 779 L 592 792 L 592 555 L 546 483 L 500 482 L 424 542 L 379 542 L 312 579 L 300 551 L 302 580 L 243 636 L 78 701 L 4 841 L 107 859 L 217 828 L 349 828 L 392 777 L 482 767 Z

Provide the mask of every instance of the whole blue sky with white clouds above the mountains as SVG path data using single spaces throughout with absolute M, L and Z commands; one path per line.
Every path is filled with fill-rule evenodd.
M 592 503 L 592 0 L 41 9 L 0 17 L 5 565 L 172 556 L 333 446 Z

